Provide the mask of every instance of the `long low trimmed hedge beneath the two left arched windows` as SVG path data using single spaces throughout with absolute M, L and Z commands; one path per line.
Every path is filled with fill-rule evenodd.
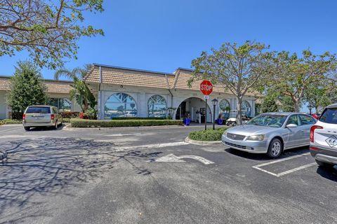
M 182 120 L 86 120 L 72 118 L 72 127 L 139 127 L 159 125 L 183 125 Z

